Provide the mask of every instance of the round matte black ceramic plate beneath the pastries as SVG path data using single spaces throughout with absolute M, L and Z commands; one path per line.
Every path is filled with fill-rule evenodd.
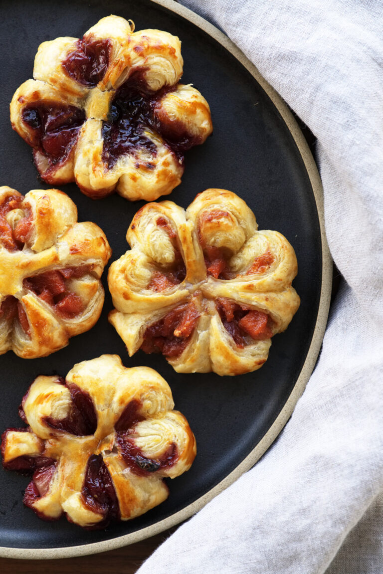
M 273 338 L 269 359 L 256 373 L 234 378 L 177 374 L 162 356 L 140 351 L 129 358 L 107 321 L 112 304 L 105 272 L 105 307 L 91 331 L 47 358 L 2 355 L 0 431 L 20 425 L 18 405 L 38 374 L 65 375 L 79 361 L 116 353 L 126 366 L 144 364 L 163 375 L 198 444 L 191 470 L 169 481 L 167 501 L 134 521 L 101 531 L 87 532 L 64 518 L 41 521 L 22 504 L 29 479 L 1 470 L 2 556 L 60 557 L 107 550 L 188 517 L 249 468 L 277 436 L 314 366 L 327 316 L 330 275 L 324 265 L 328 255 L 321 235 L 320 186 L 304 138 L 280 98 L 223 34 L 173 2 L 2 2 L 0 185 L 22 193 L 49 187 L 38 180 L 32 152 L 9 121 L 9 102 L 16 88 L 32 77 L 38 45 L 57 36 L 81 37 L 110 13 L 131 18 L 136 29 L 158 28 L 179 36 L 182 81 L 193 83 L 211 106 L 214 134 L 187 153 L 182 183 L 169 199 L 187 207 L 206 188 L 238 193 L 256 214 L 261 229 L 280 231 L 295 248 L 299 274 L 294 286 L 301 306 L 288 331 Z M 96 222 L 105 231 L 113 248 L 111 259 L 125 253 L 127 227 L 143 202 L 129 203 L 118 195 L 92 201 L 74 184 L 65 185 L 63 191 L 78 206 L 80 221 Z

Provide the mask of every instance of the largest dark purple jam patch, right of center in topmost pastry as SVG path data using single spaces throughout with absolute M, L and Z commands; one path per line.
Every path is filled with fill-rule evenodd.
M 145 129 L 150 127 L 157 131 L 168 148 L 183 162 L 183 154 L 192 146 L 200 143 L 200 138 L 192 137 L 180 121 L 161 121 L 158 110 L 160 99 L 175 86 L 165 87 L 158 92 L 150 92 L 144 78 L 145 69 L 133 73 L 115 93 L 110 107 L 109 119 L 103 123 L 104 140 L 102 158 L 109 167 L 113 167 L 123 154 L 135 154 L 138 149 L 145 149 L 153 158 L 157 148 L 151 139 L 146 137 Z M 148 169 L 154 169 L 151 161 L 146 163 Z

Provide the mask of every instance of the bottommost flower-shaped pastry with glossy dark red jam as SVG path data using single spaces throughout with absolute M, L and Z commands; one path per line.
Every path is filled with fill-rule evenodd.
M 24 503 L 40 518 L 129 520 L 163 502 L 163 478 L 194 461 L 194 435 L 173 407 L 157 371 L 126 369 L 117 355 L 83 361 L 65 379 L 34 380 L 20 407 L 29 426 L 2 435 L 3 466 L 34 471 Z

